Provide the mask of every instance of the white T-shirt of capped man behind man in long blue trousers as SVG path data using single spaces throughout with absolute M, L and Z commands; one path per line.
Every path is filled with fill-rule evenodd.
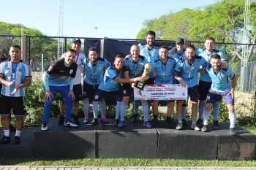
M 61 58 L 64 58 L 66 55 L 66 53 L 62 54 L 61 55 Z M 82 77 L 82 60 L 86 58 L 86 55 L 84 55 L 82 52 L 79 52 L 78 55 L 75 55 L 75 63 L 77 63 L 78 65 L 78 69 L 77 69 L 77 72 L 75 74 L 75 83 L 74 85 L 79 85 L 81 84 L 81 77 Z M 69 83 L 69 80 L 67 81 Z

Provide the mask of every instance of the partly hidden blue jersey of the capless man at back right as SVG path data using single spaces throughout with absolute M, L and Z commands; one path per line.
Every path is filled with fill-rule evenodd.
M 202 56 L 203 58 L 206 59 L 206 61 L 208 61 L 210 63 L 211 61 L 211 55 L 214 55 L 214 54 L 219 54 L 220 57 L 223 59 L 223 55 L 222 55 L 222 52 L 218 51 L 218 50 L 213 50 L 211 54 L 207 54 L 206 52 L 206 49 L 201 49 L 201 48 L 198 48 L 197 51 L 195 52 L 196 55 L 199 55 L 199 56 Z M 209 77 L 208 73 L 200 73 L 200 80 L 204 81 L 204 82 L 211 82 L 211 77 Z

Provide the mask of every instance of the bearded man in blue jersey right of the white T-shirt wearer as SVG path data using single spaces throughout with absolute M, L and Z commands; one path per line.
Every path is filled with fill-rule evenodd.
M 83 78 L 83 123 L 88 123 L 88 111 L 89 111 L 89 98 L 94 96 L 95 91 L 99 88 L 99 82 L 102 80 L 102 71 L 110 66 L 110 62 L 105 58 L 99 58 L 97 48 L 89 49 L 89 58 L 83 59 L 83 65 L 85 66 L 85 76 Z M 102 98 L 99 101 L 99 107 L 102 113 L 102 123 L 108 123 L 108 119 L 105 116 L 106 104 L 105 99 Z M 94 112 L 94 118 L 98 118 L 97 112 Z

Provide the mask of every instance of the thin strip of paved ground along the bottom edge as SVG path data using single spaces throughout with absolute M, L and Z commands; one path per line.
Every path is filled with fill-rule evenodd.
M 0 166 L 0 170 L 256 170 L 256 167 Z

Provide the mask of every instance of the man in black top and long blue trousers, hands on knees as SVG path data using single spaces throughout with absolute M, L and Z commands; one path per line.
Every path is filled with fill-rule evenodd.
M 56 92 L 61 93 L 61 96 L 66 101 L 64 126 L 78 127 L 78 125 L 70 122 L 75 99 L 73 86 L 78 68 L 78 65 L 75 63 L 75 55 L 75 50 L 69 49 L 65 58 L 60 58 L 51 63 L 48 69 L 42 74 L 42 82 L 45 88 L 45 106 L 41 131 L 48 131 L 50 108 Z M 69 77 L 70 79 L 68 79 Z M 69 81 L 69 85 L 67 81 Z

